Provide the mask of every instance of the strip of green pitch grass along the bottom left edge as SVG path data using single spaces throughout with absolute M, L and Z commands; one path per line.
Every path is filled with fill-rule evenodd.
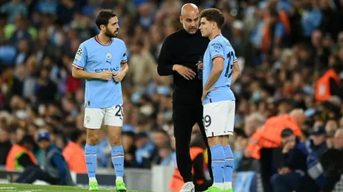
M 52 185 L 33 185 L 33 184 L 0 184 L 0 192 L 37 192 L 37 191 L 54 191 L 54 192 L 85 192 L 86 187 L 75 186 L 52 186 Z M 99 192 L 116 191 L 115 189 L 99 189 Z M 127 192 L 150 192 L 150 191 L 127 191 Z

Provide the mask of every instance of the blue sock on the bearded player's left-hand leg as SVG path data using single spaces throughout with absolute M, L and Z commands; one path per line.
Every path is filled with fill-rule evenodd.
M 95 182 L 95 169 L 97 168 L 97 146 L 96 145 L 85 145 L 85 161 L 87 165 L 87 174 L 90 182 Z

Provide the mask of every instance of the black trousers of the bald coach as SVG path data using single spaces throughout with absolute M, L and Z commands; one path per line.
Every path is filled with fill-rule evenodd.
M 178 165 L 183 182 L 193 182 L 192 160 L 190 159 L 190 136 L 195 123 L 199 124 L 200 131 L 207 146 L 209 174 L 213 181 L 211 168 L 211 150 L 202 123 L 202 103 L 193 105 L 176 105 L 173 103 L 174 136 L 176 140 L 176 163 Z

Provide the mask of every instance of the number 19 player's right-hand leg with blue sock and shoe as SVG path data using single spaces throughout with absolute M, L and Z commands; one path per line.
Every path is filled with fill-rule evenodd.
M 233 163 L 234 156 L 229 145 L 230 135 L 223 136 L 223 147 L 225 153 L 225 166 L 224 166 L 224 191 L 233 192 L 232 189 L 232 173 L 233 173 Z

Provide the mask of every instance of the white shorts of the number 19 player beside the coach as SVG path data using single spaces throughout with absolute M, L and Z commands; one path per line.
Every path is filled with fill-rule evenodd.
M 204 105 L 204 127 L 207 138 L 233 135 L 235 125 L 235 101 L 219 101 Z

